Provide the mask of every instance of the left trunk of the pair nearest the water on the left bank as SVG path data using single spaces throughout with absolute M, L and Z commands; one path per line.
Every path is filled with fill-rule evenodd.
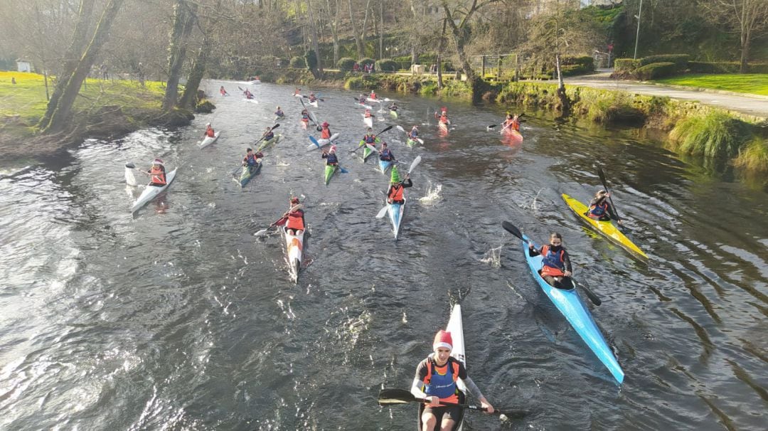
M 168 81 L 165 85 L 163 110 L 170 111 L 176 106 L 179 97 L 179 77 L 184 59 L 187 57 L 187 39 L 192 32 L 194 12 L 197 3 L 187 6 L 185 0 L 177 0 L 174 5 L 174 29 L 170 33 L 168 47 Z

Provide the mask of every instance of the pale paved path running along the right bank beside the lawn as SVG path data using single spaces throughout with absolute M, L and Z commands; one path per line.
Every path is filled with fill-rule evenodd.
M 768 118 L 768 99 L 750 98 L 735 94 L 710 93 L 709 91 L 682 90 L 660 85 L 642 84 L 636 81 L 618 81 L 604 75 L 565 78 L 566 85 L 581 85 L 608 90 L 621 90 L 647 96 L 667 96 L 677 100 L 700 101 L 703 104 L 737 111 L 754 117 Z

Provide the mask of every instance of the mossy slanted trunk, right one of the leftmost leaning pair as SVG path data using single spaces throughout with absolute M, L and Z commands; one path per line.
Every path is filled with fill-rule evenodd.
M 123 0 L 109 0 L 104 7 L 104 13 L 101 14 L 98 25 L 96 25 L 91 43 L 88 44 L 88 48 L 85 48 L 83 56 L 74 68 L 71 78 L 68 79 L 64 91 L 61 92 L 61 98 L 59 98 L 56 108 L 51 114 L 51 121 L 43 129 L 44 133 L 51 134 L 64 130 L 65 124 L 71 117 L 72 106 L 74 106 L 74 100 L 80 92 L 80 86 L 88 77 L 88 72 L 91 71 L 98 51 L 107 41 L 109 28 L 114 22 L 114 17 L 118 15 L 122 4 Z

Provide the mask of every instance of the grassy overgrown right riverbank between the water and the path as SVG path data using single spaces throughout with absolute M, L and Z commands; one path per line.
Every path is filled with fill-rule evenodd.
M 448 75 L 448 74 L 446 74 Z M 453 74 L 450 75 L 451 78 Z M 399 91 L 426 96 L 489 101 L 552 111 L 561 118 L 588 121 L 604 127 L 633 127 L 661 132 L 664 146 L 679 154 L 703 157 L 707 164 L 726 162 L 751 176 L 768 174 L 768 124 L 765 118 L 715 108 L 695 100 L 674 100 L 613 88 L 592 88 L 566 83 L 570 110 L 563 112 L 557 85 L 551 82 L 474 83 L 445 79 L 442 90 L 431 75 L 348 74 L 326 72 L 314 79 L 309 71 L 292 69 L 266 76 L 281 84 L 314 88 Z

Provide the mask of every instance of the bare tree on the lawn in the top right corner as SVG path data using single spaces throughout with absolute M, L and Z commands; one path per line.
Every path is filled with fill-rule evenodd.
M 741 42 L 740 73 L 747 72 L 750 44 L 768 27 L 768 1 L 766 0 L 712 0 L 703 2 L 710 18 L 717 24 L 727 25 L 737 33 Z

